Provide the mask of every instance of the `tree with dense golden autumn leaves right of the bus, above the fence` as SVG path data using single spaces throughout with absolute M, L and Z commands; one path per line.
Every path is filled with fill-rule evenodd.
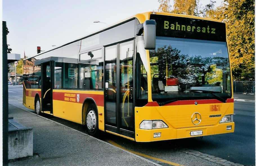
M 253 0 L 224 0 L 206 17 L 227 22 L 227 37 L 234 81 L 255 80 L 255 22 Z

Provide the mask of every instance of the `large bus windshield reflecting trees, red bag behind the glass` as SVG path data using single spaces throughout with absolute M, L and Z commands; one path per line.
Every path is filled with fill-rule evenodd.
M 156 37 L 149 52 L 152 100 L 165 105 L 177 100 L 231 98 L 226 42 Z

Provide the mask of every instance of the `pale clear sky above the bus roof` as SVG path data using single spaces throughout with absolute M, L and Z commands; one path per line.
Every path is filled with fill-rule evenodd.
M 222 0 L 215 0 L 219 6 Z M 171 0 L 172 3 L 172 0 Z M 210 0 L 201 0 L 202 6 Z M 173 4 L 171 4 L 173 6 Z M 47 51 L 137 13 L 157 11 L 157 0 L 3 0 L 11 53 L 27 57 Z M 104 23 L 94 23 L 100 21 Z M 52 46 L 56 45 L 56 46 Z

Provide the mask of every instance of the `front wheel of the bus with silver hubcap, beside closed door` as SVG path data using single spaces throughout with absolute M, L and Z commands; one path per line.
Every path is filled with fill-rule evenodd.
M 93 137 L 98 136 L 98 112 L 95 104 L 90 104 L 87 108 L 85 126 L 89 135 Z

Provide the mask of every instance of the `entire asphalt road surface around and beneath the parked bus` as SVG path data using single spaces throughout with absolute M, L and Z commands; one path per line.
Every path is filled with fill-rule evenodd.
M 9 104 L 18 102 L 21 103 L 22 107 L 23 93 L 21 86 L 8 86 L 8 94 Z M 31 111 L 34 112 L 33 110 Z M 112 140 L 131 151 L 177 163 L 181 163 L 183 160 L 183 154 L 180 153 L 181 149 L 188 148 L 217 156 L 234 163 L 255 165 L 255 103 L 235 101 L 234 113 L 234 133 L 150 143 L 133 142 L 107 133 L 102 133 L 101 139 L 105 141 Z M 80 124 L 50 115 L 44 115 L 44 117 L 86 133 L 85 129 Z M 166 165 L 163 163 L 159 164 Z M 190 163 L 188 165 L 199 164 Z

